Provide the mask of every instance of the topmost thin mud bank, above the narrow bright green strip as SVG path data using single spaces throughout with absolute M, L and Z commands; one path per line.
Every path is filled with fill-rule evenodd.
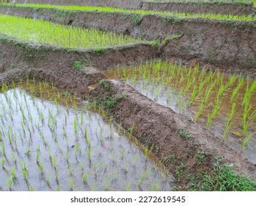
M 16 0 L 24 3 L 24 0 Z M 117 7 L 136 10 L 169 11 L 176 13 L 219 13 L 230 15 L 249 15 L 254 13 L 252 3 L 224 2 L 153 2 L 141 0 L 27 0 L 32 4 L 82 5 L 96 7 Z

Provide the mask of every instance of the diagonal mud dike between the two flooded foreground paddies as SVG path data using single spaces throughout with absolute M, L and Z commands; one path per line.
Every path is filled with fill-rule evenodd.
M 111 113 L 117 124 L 121 124 L 124 129 L 132 129 L 140 143 L 153 146 L 153 154 L 176 177 L 178 190 L 189 189 L 192 182 L 200 185 L 197 177 L 202 173 L 212 175 L 215 157 L 222 157 L 225 163 L 234 164 L 234 170 L 239 174 L 256 177 L 254 164 L 215 138 L 201 124 L 156 104 L 125 82 L 101 80 L 99 86 L 91 91 L 90 99 Z M 191 138 L 182 138 L 179 135 L 180 129 L 189 132 Z M 206 156 L 198 163 L 200 152 Z M 192 181 L 187 174 L 196 179 Z

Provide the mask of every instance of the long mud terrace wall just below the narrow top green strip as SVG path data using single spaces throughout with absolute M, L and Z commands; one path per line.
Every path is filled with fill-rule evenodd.
M 113 31 L 147 40 L 165 40 L 162 57 L 166 59 L 177 57 L 242 72 L 256 71 L 256 24 L 253 21 L 181 19 L 13 6 L 0 6 L 0 13 Z

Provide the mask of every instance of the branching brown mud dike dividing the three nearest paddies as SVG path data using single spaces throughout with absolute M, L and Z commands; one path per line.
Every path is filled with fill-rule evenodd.
M 24 43 L 2 35 L 0 51 L 0 87 L 2 83 L 11 84 L 30 77 L 55 83 L 61 90 L 76 93 L 82 99 L 95 99 L 102 104 L 114 99 L 110 114 L 115 122 L 128 132 L 133 128 L 133 135 L 140 143 L 149 148 L 152 146 L 153 154 L 176 177 L 178 190 L 185 190 L 190 183 L 184 174 L 212 174 L 217 156 L 222 157 L 224 163 L 232 163 L 238 174 L 256 177 L 255 163 L 248 160 L 246 154 L 235 152 L 201 124 L 149 100 L 124 82 L 102 80 L 101 71 L 114 68 L 114 65 L 129 65 L 157 57 L 157 47 L 139 43 L 103 51 L 60 49 Z M 79 70 L 74 68 L 77 60 L 86 60 Z M 186 129 L 194 138 L 181 138 L 179 129 Z M 197 154 L 201 151 L 207 157 L 198 164 Z

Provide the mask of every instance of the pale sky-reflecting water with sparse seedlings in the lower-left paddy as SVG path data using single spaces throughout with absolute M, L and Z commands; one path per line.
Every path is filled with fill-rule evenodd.
M 98 113 L 21 88 L 0 93 L 0 105 L 0 190 L 172 189 L 172 175 Z

